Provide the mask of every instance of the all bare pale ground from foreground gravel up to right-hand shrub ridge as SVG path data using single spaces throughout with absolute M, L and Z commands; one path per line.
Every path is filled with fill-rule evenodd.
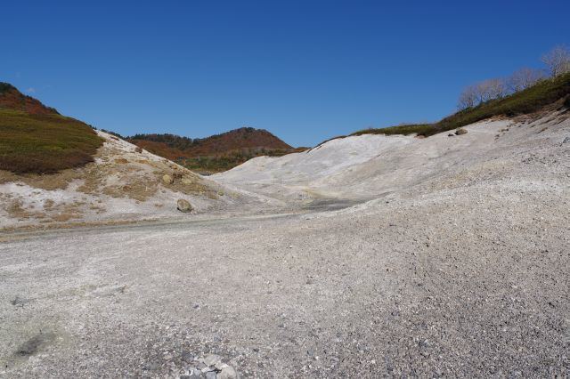
M 288 213 L 4 233 L 0 375 L 570 375 L 569 136 L 331 141 L 213 178 Z

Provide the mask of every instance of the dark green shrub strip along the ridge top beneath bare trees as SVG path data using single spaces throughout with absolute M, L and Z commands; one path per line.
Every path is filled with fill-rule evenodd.
M 561 106 L 570 108 L 570 73 L 545 79 L 523 91 L 501 99 L 486 101 L 476 107 L 460 110 L 434 124 L 397 125 L 387 128 L 364 129 L 351 135 L 361 134 L 411 134 L 430 136 L 461 126 L 476 123 L 486 118 L 526 115 L 545 106 L 562 101 Z

